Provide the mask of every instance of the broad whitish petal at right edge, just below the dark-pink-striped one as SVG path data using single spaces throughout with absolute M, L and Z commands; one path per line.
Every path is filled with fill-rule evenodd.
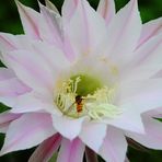
M 150 38 L 147 43 L 140 46 L 135 51 L 135 58 L 132 58 L 128 71 L 127 79 L 138 78 L 151 78 L 157 72 L 162 70 L 162 34 L 159 34 Z M 134 73 L 134 74 L 132 74 Z

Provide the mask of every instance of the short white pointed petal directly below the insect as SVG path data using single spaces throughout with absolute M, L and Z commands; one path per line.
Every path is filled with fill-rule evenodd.
M 84 118 L 72 119 L 66 116 L 58 117 L 55 115 L 51 115 L 51 117 L 55 129 L 70 140 L 80 134 L 84 120 Z

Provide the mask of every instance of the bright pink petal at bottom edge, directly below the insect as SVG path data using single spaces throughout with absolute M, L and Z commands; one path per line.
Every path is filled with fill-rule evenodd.
M 62 139 L 57 162 L 82 162 L 84 144 L 78 138 L 73 140 Z

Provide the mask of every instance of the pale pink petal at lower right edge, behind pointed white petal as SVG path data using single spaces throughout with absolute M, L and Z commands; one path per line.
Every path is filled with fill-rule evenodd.
M 147 148 L 158 149 L 158 150 L 162 149 L 161 121 L 154 119 L 150 113 L 143 114 L 142 118 L 146 128 L 146 134 L 140 135 L 129 131 L 126 132 L 126 135 Z

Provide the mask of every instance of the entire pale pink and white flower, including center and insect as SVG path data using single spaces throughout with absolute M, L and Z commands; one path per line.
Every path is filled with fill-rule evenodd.
M 0 102 L 12 107 L 0 155 L 40 143 L 28 162 L 82 162 L 86 148 L 124 162 L 128 144 L 162 149 L 162 19 L 142 24 L 138 0 L 117 13 L 114 0 L 65 0 L 61 14 L 15 2 L 25 34 L 0 33 Z

